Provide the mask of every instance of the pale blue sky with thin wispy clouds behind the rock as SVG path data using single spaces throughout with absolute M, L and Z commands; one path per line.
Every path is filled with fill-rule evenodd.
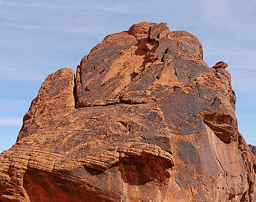
M 195 34 L 210 67 L 228 63 L 239 130 L 256 145 L 255 0 L 1 0 L 0 151 L 15 143 L 47 75 L 62 67 L 75 70 L 104 36 L 144 21 Z

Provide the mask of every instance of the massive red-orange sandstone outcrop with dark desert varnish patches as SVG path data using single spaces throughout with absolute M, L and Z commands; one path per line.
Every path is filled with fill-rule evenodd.
M 143 22 L 49 75 L 0 155 L 1 201 L 255 201 L 223 61 Z

